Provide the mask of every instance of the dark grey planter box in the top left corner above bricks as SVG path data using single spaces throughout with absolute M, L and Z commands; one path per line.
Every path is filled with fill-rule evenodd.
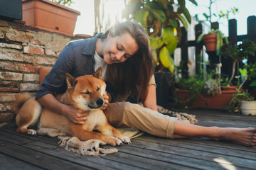
M 0 16 L 7 20 L 22 20 L 22 1 L 21 0 L 1 0 Z M 1 18 L 2 18 L 1 17 Z

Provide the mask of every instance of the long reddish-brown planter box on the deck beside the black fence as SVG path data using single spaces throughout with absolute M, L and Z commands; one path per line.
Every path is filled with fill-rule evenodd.
M 195 103 L 181 103 L 182 106 L 193 106 L 196 108 L 218 108 L 223 109 L 228 106 L 230 103 L 235 90 L 230 91 L 220 91 L 221 94 L 216 94 L 215 96 L 207 96 L 202 94 L 202 97 L 199 96 Z M 186 101 L 188 98 L 189 90 L 180 90 L 176 89 L 176 94 L 178 101 Z M 192 104 L 193 103 L 193 104 Z

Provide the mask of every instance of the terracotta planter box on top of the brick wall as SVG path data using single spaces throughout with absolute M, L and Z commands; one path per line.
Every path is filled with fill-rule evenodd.
M 79 11 L 48 0 L 22 0 L 26 25 L 73 36 Z

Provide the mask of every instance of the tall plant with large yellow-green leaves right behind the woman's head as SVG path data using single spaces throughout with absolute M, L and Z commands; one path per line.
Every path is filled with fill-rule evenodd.
M 197 5 L 195 0 L 189 0 Z M 177 8 L 177 10 L 175 9 Z M 131 0 L 125 8 L 125 17 L 146 28 L 149 35 L 149 45 L 154 53 L 154 60 L 163 67 L 174 72 L 174 53 L 181 41 L 181 26 L 185 29 L 191 23 L 191 15 L 186 8 L 185 0 Z

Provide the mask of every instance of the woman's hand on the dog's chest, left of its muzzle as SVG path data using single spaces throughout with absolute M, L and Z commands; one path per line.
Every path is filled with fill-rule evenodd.
M 82 111 L 70 105 L 65 105 L 63 108 L 63 115 L 65 115 L 71 122 L 78 125 L 83 125 L 87 120 L 90 111 Z

